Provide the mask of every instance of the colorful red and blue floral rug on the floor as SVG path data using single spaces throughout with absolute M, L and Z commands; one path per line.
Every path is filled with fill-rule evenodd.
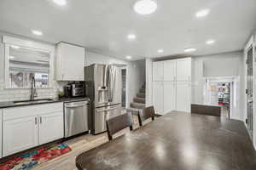
M 27 170 L 55 157 L 62 156 L 71 148 L 67 144 L 54 144 L 39 150 L 33 150 L 27 154 L 10 158 L 0 163 L 0 170 Z

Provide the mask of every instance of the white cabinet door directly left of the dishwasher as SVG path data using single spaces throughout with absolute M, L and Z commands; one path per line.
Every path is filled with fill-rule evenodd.
M 64 137 L 63 112 L 38 116 L 39 144 L 45 144 Z

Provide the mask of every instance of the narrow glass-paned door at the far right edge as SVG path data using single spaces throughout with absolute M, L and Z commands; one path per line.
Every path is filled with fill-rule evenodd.
M 247 130 L 253 139 L 253 45 L 247 50 Z

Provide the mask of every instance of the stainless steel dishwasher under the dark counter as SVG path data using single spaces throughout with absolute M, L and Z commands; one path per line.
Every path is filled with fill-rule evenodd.
M 64 103 L 65 138 L 89 131 L 89 101 Z

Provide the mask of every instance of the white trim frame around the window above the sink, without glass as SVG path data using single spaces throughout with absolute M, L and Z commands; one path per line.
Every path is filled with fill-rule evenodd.
M 22 48 L 32 48 L 38 51 L 42 51 L 45 53 L 49 53 L 49 78 L 48 78 L 48 87 L 40 87 L 40 88 L 53 88 L 54 82 L 54 54 L 55 54 L 55 46 L 41 43 L 41 42 L 32 42 L 25 39 L 15 38 L 15 37 L 8 37 L 3 36 L 3 43 L 4 43 L 4 82 L 5 88 L 9 89 L 28 89 L 27 87 L 23 88 L 12 88 L 10 87 L 10 77 L 9 77 L 9 48 L 11 45 L 16 45 Z

